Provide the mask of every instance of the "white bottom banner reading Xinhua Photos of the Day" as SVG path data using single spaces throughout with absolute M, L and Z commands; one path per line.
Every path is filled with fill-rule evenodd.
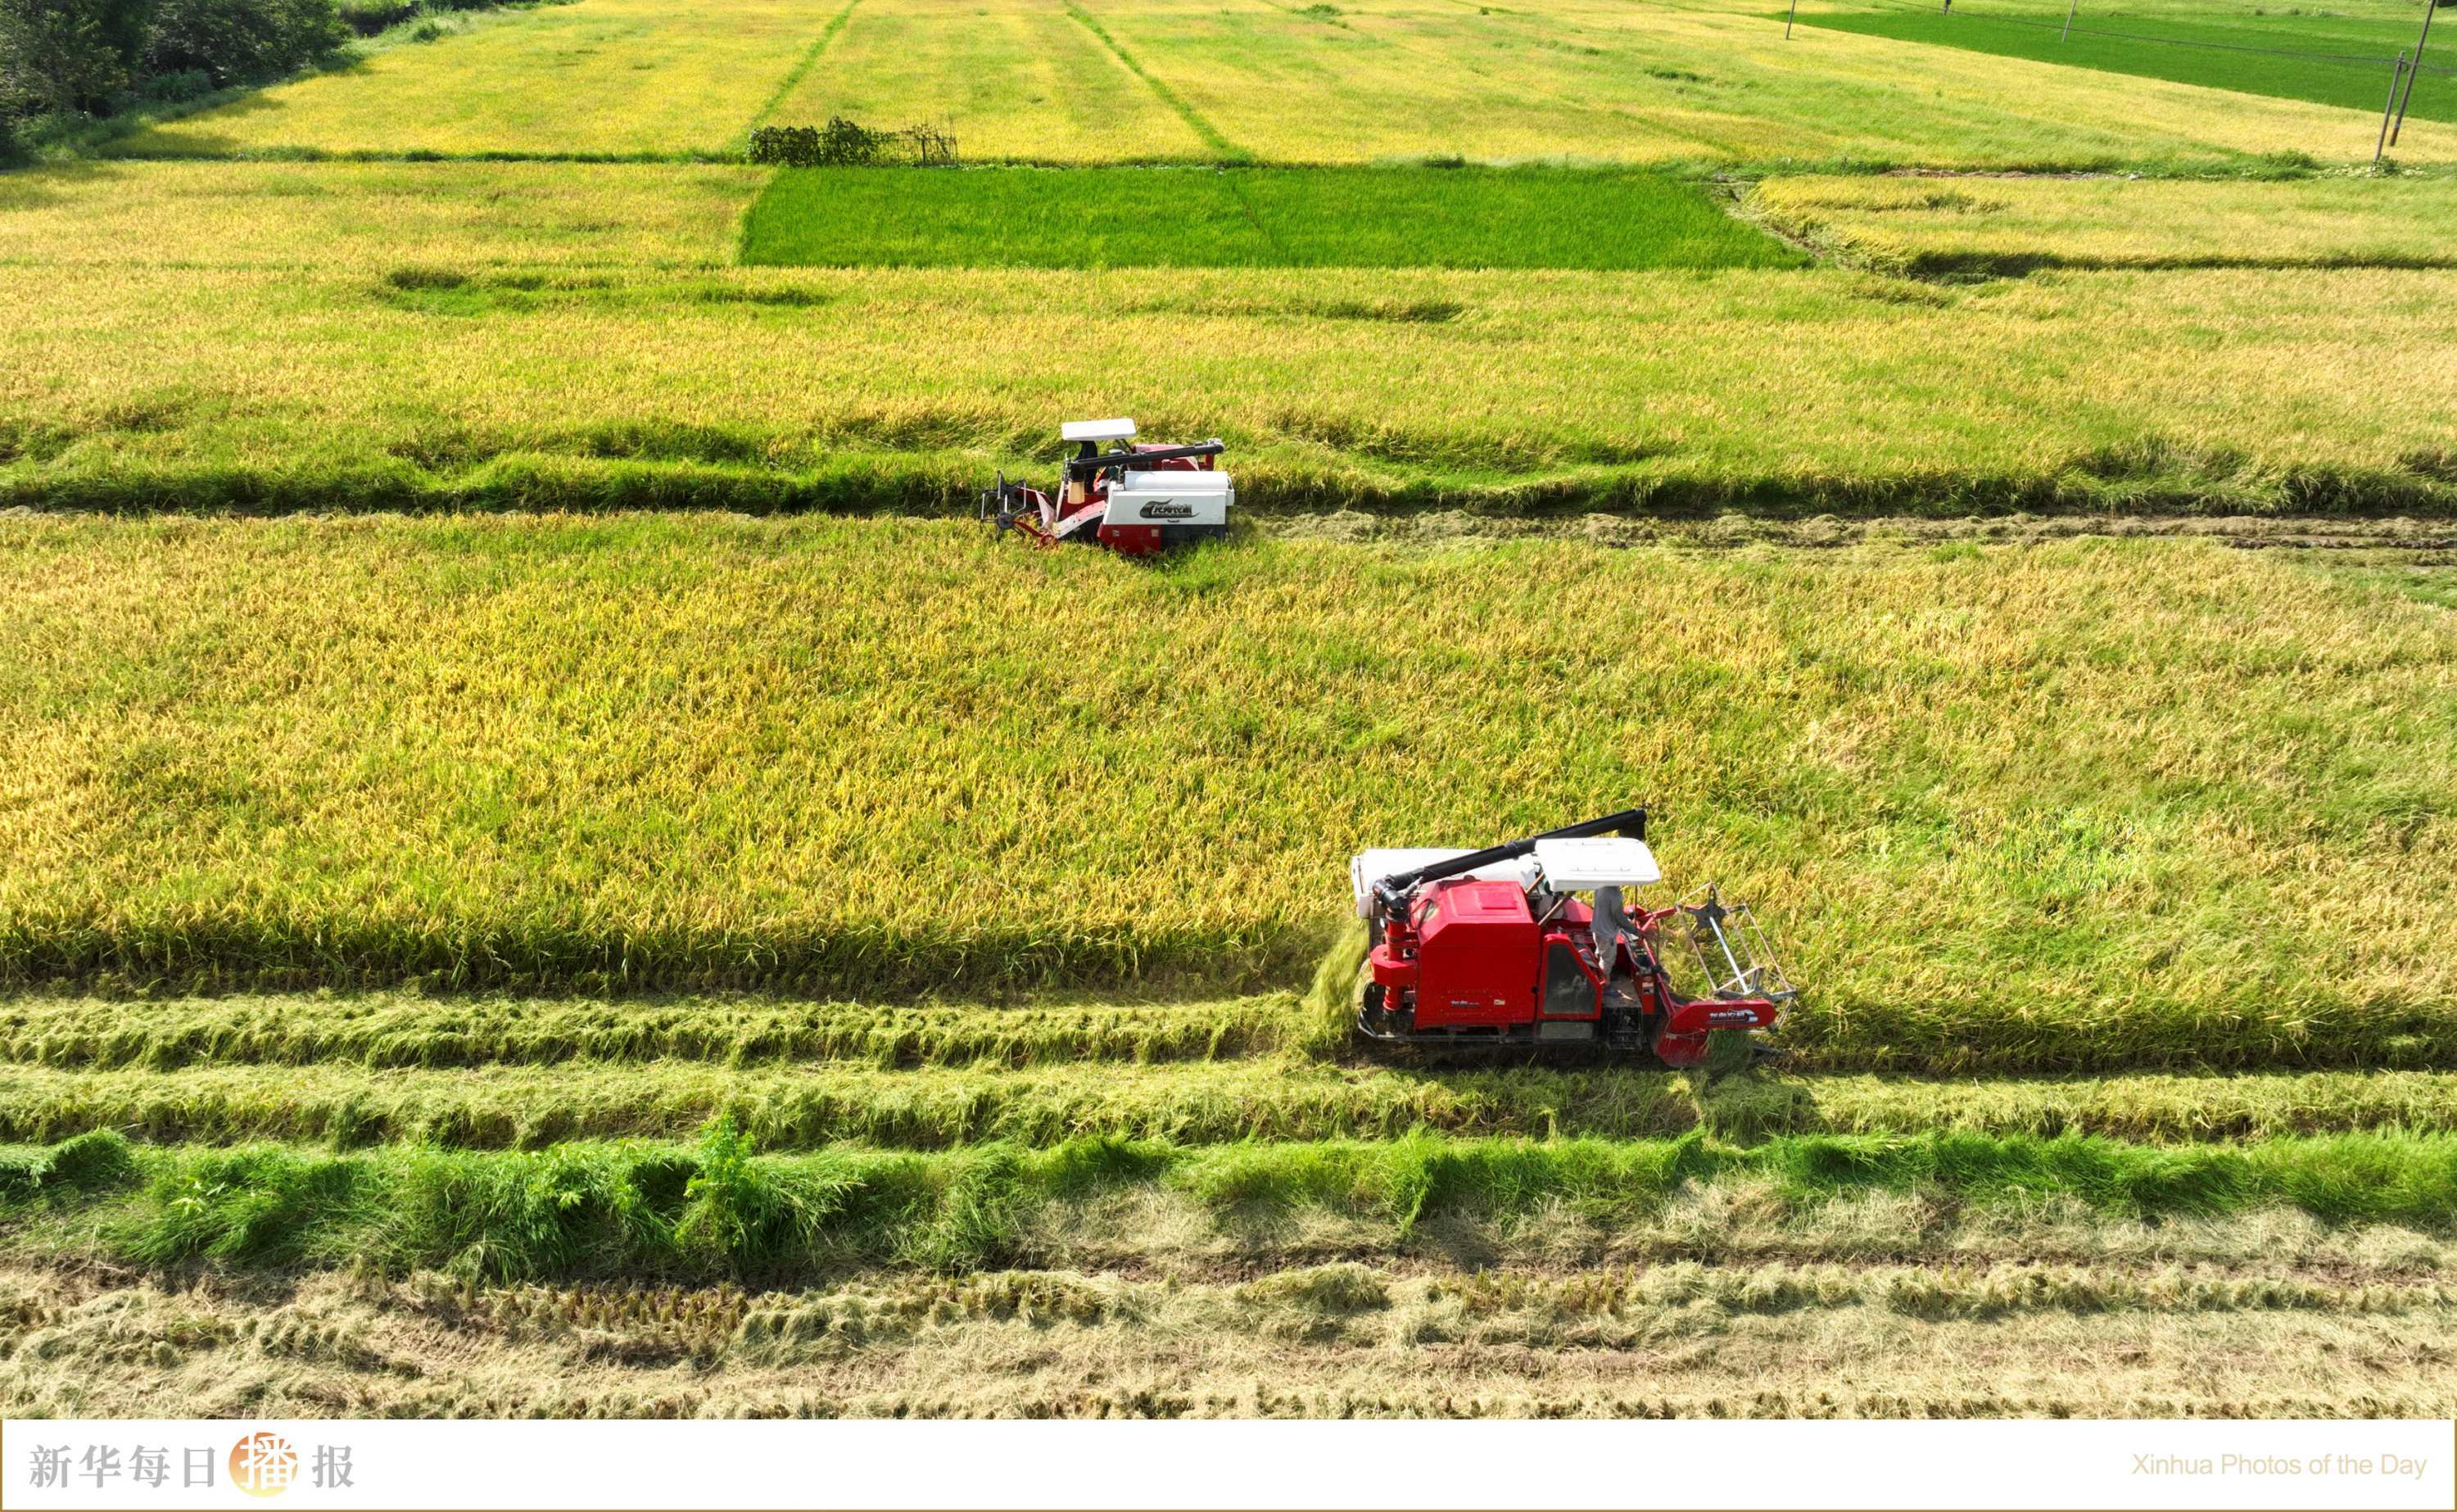
M 2447 1421 L 7 1421 L 7 1507 L 2432 1507 Z

